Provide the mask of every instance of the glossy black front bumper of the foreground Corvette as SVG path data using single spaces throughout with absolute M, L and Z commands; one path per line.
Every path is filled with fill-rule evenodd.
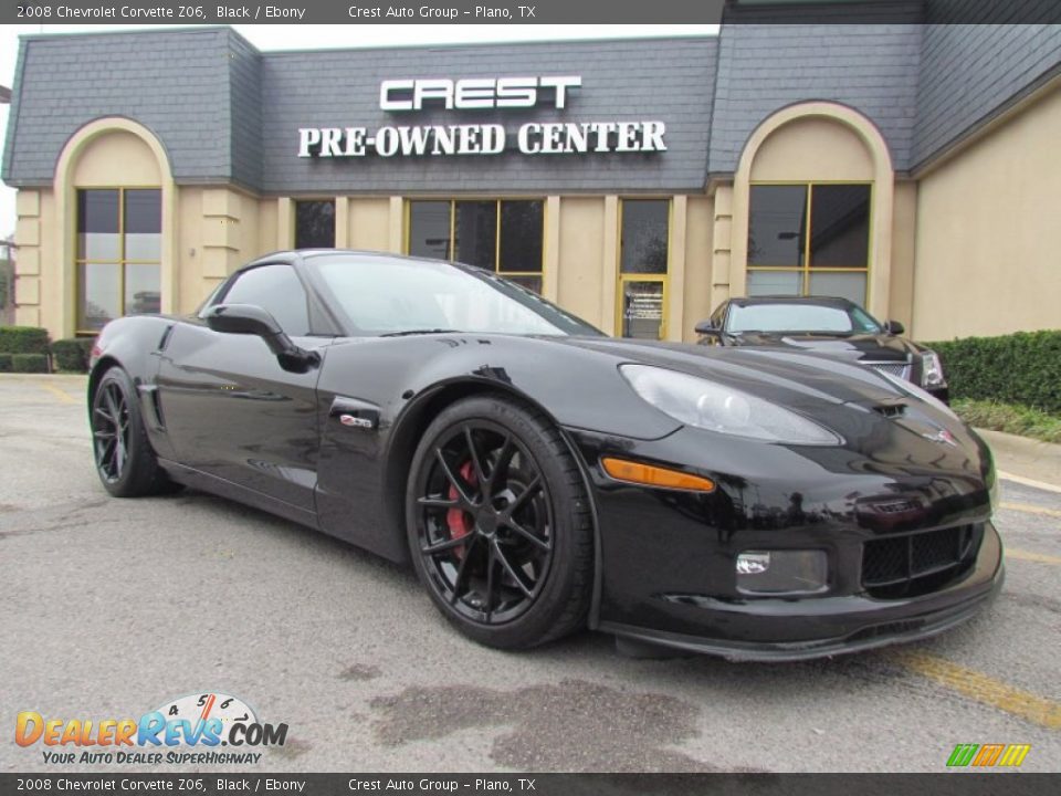
M 571 433 L 598 515 L 597 629 L 731 659 L 798 660 L 934 636 L 971 618 L 1001 588 L 1002 544 L 989 521 L 994 472 L 975 437 L 963 434 L 956 446 L 882 440 L 858 451 L 756 447 L 691 429 L 654 441 Z M 717 489 L 618 484 L 596 465 L 606 454 L 684 462 Z M 889 512 L 875 513 L 881 501 Z M 869 543 L 965 526 L 978 528 L 979 543 L 952 578 L 886 598 L 863 585 Z M 738 591 L 736 556 L 761 549 L 824 551 L 828 590 Z

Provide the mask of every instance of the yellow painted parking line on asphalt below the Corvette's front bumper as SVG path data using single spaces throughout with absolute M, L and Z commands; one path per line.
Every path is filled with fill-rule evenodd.
M 894 653 L 906 669 L 981 704 L 1049 730 L 1061 730 L 1061 703 L 1013 688 L 944 658 L 904 650 Z

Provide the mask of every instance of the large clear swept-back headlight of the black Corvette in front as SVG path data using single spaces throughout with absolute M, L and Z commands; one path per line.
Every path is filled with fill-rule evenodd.
M 733 387 L 648 365 L 622 365 L 619 373 L 644 400 L 687 426 L 766 442 L 841 442 L 818 423 Z

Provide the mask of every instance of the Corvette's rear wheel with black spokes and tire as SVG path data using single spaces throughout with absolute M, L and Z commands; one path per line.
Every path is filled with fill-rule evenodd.
M 115 498 L 140 498 L 169 491 L 144 428 L 136 386 L 120 367 L 99 379 L 90 415 L 96 473 Z

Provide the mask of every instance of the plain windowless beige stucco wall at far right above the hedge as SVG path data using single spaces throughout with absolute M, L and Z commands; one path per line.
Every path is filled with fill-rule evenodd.
M 1061 91 L 922 176 L 912 334 L 1061 328 Z

